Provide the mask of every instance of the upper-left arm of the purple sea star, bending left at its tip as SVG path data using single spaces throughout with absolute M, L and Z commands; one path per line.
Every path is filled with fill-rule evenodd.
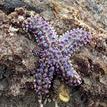
M 54 28 L 40 16 L 27 18 L 23 23 L 23 29 L 32 33 L 38 46 L 43 49 L 49 48 L 51 43 L 57 39 Z

